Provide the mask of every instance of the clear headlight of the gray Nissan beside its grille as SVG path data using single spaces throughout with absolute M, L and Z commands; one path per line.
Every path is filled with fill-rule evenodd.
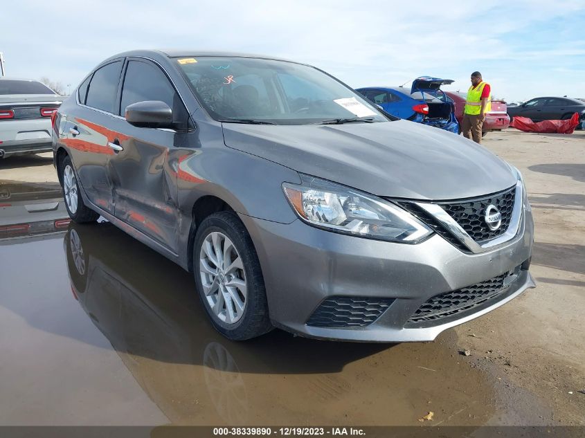
M 432 230 L 393 203 L 343 185 L 300 175 L 282 188 L 300 219 L 343 234 L 414 244 Z

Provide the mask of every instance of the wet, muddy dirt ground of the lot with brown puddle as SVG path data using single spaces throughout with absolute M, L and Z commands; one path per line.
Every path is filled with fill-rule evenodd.
M 523 173 L 537 289 L 434 343 L 278 330 L 231 343 L 188 273 L 107 224 L 94 235 L 134 262 L 109 275 L 124 286 L 98 314 L 71 293 L 64 234 L 0 241 L 0 425 L 414 425 L 427 412 L 431 425 L 584 425 L 585 132 L 508 129 L 483 145 Z M 51 154 L 0 161 L 3 180 L 56 183 Z M 107 259 L 96 266 L 107 271 Z M 147 303 L 135 322 L 107 325 L 133 302 Z

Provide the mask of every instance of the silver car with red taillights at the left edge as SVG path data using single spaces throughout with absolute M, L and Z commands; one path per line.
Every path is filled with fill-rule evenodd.
M 63 100 L 41 82 L 0 77 L 0 158 L 51 152 L 51 116 Z

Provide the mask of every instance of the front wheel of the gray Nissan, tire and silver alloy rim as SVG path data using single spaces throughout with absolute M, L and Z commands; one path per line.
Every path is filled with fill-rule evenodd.
M 234 212 L 217 212 L 201 222 L 192 268 L 201 303 L 219 333 L 246 340 L 273 329 L 258 255 Z

